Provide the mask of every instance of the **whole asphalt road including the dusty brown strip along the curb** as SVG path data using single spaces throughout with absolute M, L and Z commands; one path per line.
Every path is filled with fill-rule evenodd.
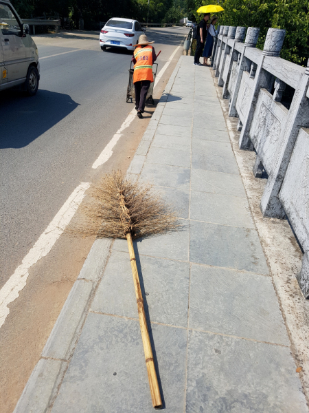
M 147 31 L 162 50 L 159 70 L 183 41 L 185 28 Z M 36 96 L 0 94 L 0 295 L 40 235 L 81 182 L 126 170 L 148 125 L 133 120 L 104 165 L 93 162 L 133 109 L 126 103 L 132 54 L 100 50 L 98 33 L 35 36 L 41 61 Z M 155 87 L 160 97 L 182 48 Z M 78 215 L 78 212 L 76 213 Z M 73 219 L 75 219 L 74 216 Z M 0 411 L 12 413 L 36 365 L 93 240 L 61 235 L 29 268 L 0 328 Z M 0 314 L 1 315 L 1 314 Z

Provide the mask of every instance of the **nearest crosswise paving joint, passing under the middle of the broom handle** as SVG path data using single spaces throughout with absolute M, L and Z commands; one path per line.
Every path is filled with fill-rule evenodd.
M 98 314 L 98 315 L 106 315 L 108 317 L 116 317 L 120 319 L 126 319 L 126 320 L 133 320 L 133 321 L 139 321 L 138 318 L 135 317 L 127 317 L 126 315 L 118 315 L 118 314 L 111 314 L 111 313 L 104 313 L 102 311 L 95 311 L 95 310 L 89 310 L 89 313 L 93 314 Z M 189 310 L 188 310 L 188 322 L 189 322 Z M 224 332 L 216 332 L 216 331 L 210 331 L 210 330 L 203 330 L 200 328 L 192 328 L 192 327 L 183 327 L 183 326 L 174 326 L 174 324 L 166 324 L 166 323 L 159 323 L 159 321 L 149 321 L 150 324 L 155 324 L 157 326 L 165 326 L 165 327 L 172 327 L 172 328 L 180 328 L 181 330 L 187 330 L 189 331 L 195 331 L 195 332 L 205 332 L 206 334 L 211 334 L 211 335 L 219 335 L 222 337 L 231 337 L 232 339 L 239 339 L 239 340 L 246 340 L 246 341 L 253 341 L 255 343 L 264 343 L 264 344 L 271 344 L 271 346 L 280 346 L 280 347 L 285 347 L 285 348 L 290 348 L 290 346 L 286 344 L 280 344 L 280 343 L 272 343 L 271 341 L 264 341 L 264 340 L 257 340 L 257 339 L 250 339 L 249 337 L 241 337 L 233 334 L 225 334 Z

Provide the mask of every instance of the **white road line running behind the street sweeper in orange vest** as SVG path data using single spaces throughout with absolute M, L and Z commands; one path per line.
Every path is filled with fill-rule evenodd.
M 174 52 L 172 52 L 172 54 L 170 55 L 170 59 L 168 59 L 168 61 L 165 63 L 165 65 L 160 70 L 158 76 L 156 76 L 156 85 L 155 86 L 157 86 L 159 80 L 163 76 L 163 73 L 168 68 L 168 65 L 170 65 L 170 62 L 172 61 L 172 59 L 174 58 L 176 52 L 178 52 L 180 47 L 182 47 L 182 46 L 176 47 Z M 117 132 L 115 133 L 113 138 L 111 138 L 111 140 L 108 142 L 106 147 L 104 147 L 103 151 L 98 156 L 98 159 L 95 160 L 95 162 L 93 162 L 93 165 L 92 165 L 93 169 L 97 169 L 98 167 L 103 165 L 105 162 L 107 162 L 109 158 L 111 158 L 111 156 L 113 155 L 113 147 L 115 147 L 115 145 L 118 142 L 119 138 L 122 137 L 122 131 L 124 131 L 124 129 L 126 129 L 128 126 L 130 126 L 130 123 L 132 123 L 132 121 L 133 121 L 133 119 L 135 119 L 135 117 L 136 117 L 136 110 L 132 109 L 131 112 L 128 114 L 128 117 L 126 118 L 126 120 L 124 120 L 124 123 L 122 124 L 122 126 L 117 130 Z

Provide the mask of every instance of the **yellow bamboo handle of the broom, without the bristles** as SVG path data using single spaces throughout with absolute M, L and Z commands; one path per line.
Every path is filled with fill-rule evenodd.
M 150 393 L 152 398 L 152 405 L 155 409 L 161 409 L 162 401 L 161 394 L 157 379 L 157 373 L 155 369 L 155 363 L 153 361 L 152 348 L 149 339 L 145 309 L 144 309 L 144 300 L 141 295 L 141 286 L 139 284 L 139 273 L 137 272 L 135 253 L 133 248 L 132 235 L 128 233 L 126 235 L 126 240 L 128 241 L 128 250 L 130 254 L 130 261 L 132 267 L 132 274 L 134 280 L 135 294 L 137 299 L 137 308 L 139 311 L 139 325 L 141 326 L 141 339 L 143 340 L 144 353 L 146 359 L 148 380 L 150 386 Z

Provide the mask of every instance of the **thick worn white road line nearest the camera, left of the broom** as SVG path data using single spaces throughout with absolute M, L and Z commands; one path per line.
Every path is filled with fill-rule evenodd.
M 23 262 L 18 266 L 14 274 L 8 279 L 4 286 L 0 290 L 0 328 L 10 314 L 8 304 L 12 303 L 14 299 L 19 297 L 19 291 L 21 291 L 27 282 L 29 276 L 29 269 L 38 260 L 45 257 L 54 246 L 60 235 L 65 230 L 76 213 L 82 198 L 84 198 L 84 192 L 90 187 L 88 182 L 82 182 L 71 193 L 65 204 L 60 208 L 54 220 L 47 226 L 47 229 L 43 232 L 41 237 L 38 238 L 36 244 L 30 249 L 29 253 L 23 259 Z

